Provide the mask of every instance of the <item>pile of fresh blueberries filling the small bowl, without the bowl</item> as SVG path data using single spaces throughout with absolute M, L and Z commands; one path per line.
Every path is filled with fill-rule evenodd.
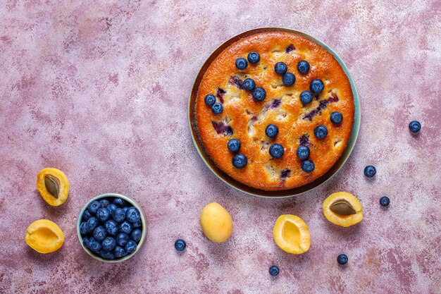
M 118 259 L 135 252 L 142 236 L 141 215 L 118 197 L 93 201 L 82 214 L 83 244 L 104 259 Z

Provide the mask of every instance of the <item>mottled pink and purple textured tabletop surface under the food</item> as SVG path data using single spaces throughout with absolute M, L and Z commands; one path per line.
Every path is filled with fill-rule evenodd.
M 440 1 L 88 2 L 0 4 L 0 293 L 440 293 Z M 329 44 L 361 98 L 347 164 L 321 188 L 285 200 L 218 180 L 187 125 L 199 66 L 226 39 L 263 26 Z M 407 129 L 412 119 L 423 124 L 418 137 Z M 377 167 L 373 181 L 366 164 Z M 70 179 L 61 207 L 35 190 L 46 166 Z M 326 221 L 321 203 L 337 190 L 359 197 L 359 225 Z M 133 197 L 148 215 L 146 243 L 122 264 L 95 261 L 77 240 L 77 214 L 103 192 Z M 210 243 L 199 228 L 199 211 L 213 201 L 234 220 L 227 243 Z M 280 214 L 308 223 L 309 252 L 275 245 Z M 66 235 L 51 255 L 23 240 L 42 218 Z M 176 238 L 187 240 L 182 255 Z M 346 267 L 337 265 L 341 252 Z

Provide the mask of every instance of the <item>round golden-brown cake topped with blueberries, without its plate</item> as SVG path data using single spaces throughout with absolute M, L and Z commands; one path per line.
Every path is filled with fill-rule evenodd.
M 261 190 L 323 176 L 354 123 L 354 95 L 340 63 L 316 42 L 263 32 L 223 50 L 202 78 L 197 130 L 219 169 Z

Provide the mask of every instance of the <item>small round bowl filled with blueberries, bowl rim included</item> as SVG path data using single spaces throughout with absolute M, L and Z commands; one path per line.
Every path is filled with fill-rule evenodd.
M 123 262 L 139 250 L 147 233 L 141 207 L 125 195 L 107 193 L 80 212 L 77 235 L 88 255 L 101 262 Z

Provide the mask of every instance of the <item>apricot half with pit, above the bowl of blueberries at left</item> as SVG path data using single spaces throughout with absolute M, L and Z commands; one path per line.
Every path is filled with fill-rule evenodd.
M 37 190 L 50 205 L 61 205 L 68 199 L 68 177 L 59 169 L 42 169 L 37 175 Z

